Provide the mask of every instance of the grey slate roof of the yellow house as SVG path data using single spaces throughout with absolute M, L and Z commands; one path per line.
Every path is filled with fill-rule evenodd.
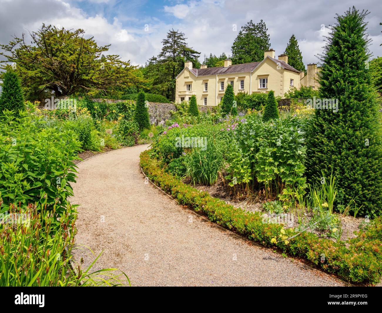
M 294 67 L 290 66 L 288 63 L 285 63 L 284 61 L 271 58 L 272 61 L 275 63 L 280 63 L 280 65 L 285 68 L 286 70 L 294 71 L 299 73 L 300 71 L 296 70 Z M 263 62 L 263 61 L 262 61 Z M 196 76 L 208 76 L 208 75 L 220 75 L 220 74 L 233 74 L 233 73 L 246 73 L 253 71 L 260 63 L 262 62 L 251 62 L 251 63 L 243 63 L 243 64 L 236 64 L 236 65 L 230 65 L 228 67 L 224 66 L 215 66 L 215 67 L 207 67 L 207 68 L 193 68 L 190 70 L 193 72 Z

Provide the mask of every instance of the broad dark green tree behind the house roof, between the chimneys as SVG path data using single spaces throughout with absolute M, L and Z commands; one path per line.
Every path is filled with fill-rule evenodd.
M 260 62 L 264 59 L 264 51 L 269 50 L 268 28 L 263 20 L 254 24 L 249 21 L 236 37 L 232 45 L 232 64 Z

